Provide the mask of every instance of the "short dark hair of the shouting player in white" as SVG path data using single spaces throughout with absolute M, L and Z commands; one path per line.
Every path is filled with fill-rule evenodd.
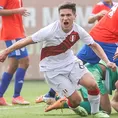
M 76 13 L 76 4 L 72 2 L 64 2 L 58 7 L 58 11 L 60 12 L 61 9 L 72 9 L 73 13 Z

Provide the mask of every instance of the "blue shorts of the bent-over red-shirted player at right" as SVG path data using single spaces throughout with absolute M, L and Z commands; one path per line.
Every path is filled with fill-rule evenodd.
M 118 59 L 113 60 L 113 56 L 116 52 L 117 45 L 109 44 L 96 41 L 105 51 L 107 57 L 111 62 L 115 62 L 118 66 Z M 90 64 L 97 64 L 100 61 L 100 58 L 94 53 L 94 51 L 88 46 L 84 45 L 80 51 L 77 53 L 77 57 L 83 62 L 88 62 Z

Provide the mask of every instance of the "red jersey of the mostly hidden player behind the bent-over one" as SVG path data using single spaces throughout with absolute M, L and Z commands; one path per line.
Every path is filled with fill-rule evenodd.
M 106 10 L 106 11 L 109 11 L 111 9 L 111 7 L 113 7 L 113 5 L 115 5 L 115 3 L 113 2 L 112 5 L 108 5 L 107 3 L 105 2 L 99 2 L 97 3 L 93 10 L 92 10 L 92 14 L 97 14 L 99 13 L 100 11 L 102 10 Z M 102 17 L 99 17 L 98 21 L 101 19 Z

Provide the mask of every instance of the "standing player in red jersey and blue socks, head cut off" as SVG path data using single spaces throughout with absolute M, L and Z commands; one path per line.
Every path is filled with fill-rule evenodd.
M 22 4 L 22 0 L 0 0 L 0 16 L 2 17 L 0 39 L 5 42 L 7 47 L 25 37 L 22 16 L 27 16 L 29 13 L 26 8 L 22 7 Z M 3 95 L 15 72 L 12 104 L 29 104 L 20 96 L 28 66 L 29 59 L 26 48 L 15 50 L 8 55 L 8 66 L 2 75 L 0 84 L 0 105 L 9 105 Z

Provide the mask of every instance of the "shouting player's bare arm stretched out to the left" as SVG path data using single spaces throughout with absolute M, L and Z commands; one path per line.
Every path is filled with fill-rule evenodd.
M 10 52 L 12 52 L 14 50 L 17 50 L 17 49 L 20 49 L 22 47 L 25 47 L 25 46 L 27 46 L 29 44 L 32 44 L 32 43 L 34 43 L 32 41 L 32 38 L 31 37 L 27 37 L 27 38 L 24 38 L 22 40 L 19 40 L 18 42 L 14 43 L 12 46 L 6 48 L 5 50 L 2 50 L 0 52 L 0 62 L 4 62 L 6 57 L 7 57 L 7 55 Z

